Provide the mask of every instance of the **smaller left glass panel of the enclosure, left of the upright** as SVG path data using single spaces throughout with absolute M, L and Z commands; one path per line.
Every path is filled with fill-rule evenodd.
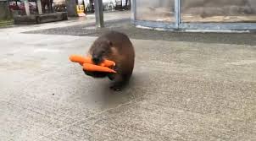
M 175 22 L 175 0 L 136 0 L 136 19 Z

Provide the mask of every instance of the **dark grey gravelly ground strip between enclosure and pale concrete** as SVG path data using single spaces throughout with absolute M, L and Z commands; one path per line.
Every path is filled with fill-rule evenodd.
M 105 22 L 106 27 L 97 30 L 95 24 L 75 24 L 65 27 L 55 27 L 42 30 L 31 30 L 23 33 L 44 35 L 79 35 L 97 36 L 106 30 L 118 30 L 129 35 L 133 39 L 153 41 L 188 41 L 203 43 L 222 43 L 237 45 L 256 45 L 256 32 L 252 34 L 230 34 L 230 33 L 188 33 L 188 32 L 166 32 L 157 30 L 138 29 L 131 25 L 129 18 L 114 19 Z

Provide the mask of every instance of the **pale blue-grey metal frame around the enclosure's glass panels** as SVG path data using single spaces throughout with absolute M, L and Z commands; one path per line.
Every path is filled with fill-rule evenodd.
M 182 23 L 181 0 L 175 0 L 175 22 L 156 22 L 136 19 L 136 0 L 132 0 L 134 19 L 131 23 L 164 30 L 256 30 L 256 23 Z

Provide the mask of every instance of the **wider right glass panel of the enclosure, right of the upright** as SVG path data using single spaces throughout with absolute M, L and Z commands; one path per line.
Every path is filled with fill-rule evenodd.
M 181 0 L 181 22 L 256 22 L 256 0 Z

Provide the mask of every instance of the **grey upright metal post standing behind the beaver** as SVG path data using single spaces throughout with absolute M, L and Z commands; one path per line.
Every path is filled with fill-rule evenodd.
M 97 28 L 104 27 L 103 20 L 103 0 L 95 0 L 95 19 Z

